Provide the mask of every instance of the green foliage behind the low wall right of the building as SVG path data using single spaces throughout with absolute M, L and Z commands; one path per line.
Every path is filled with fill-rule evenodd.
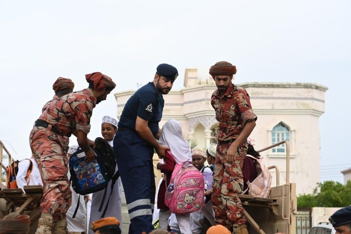
M 351 181 L 342 185 L 335 181 L 317 183 L 313 194 L 298 197 L 298 208 L 345 207 L 351 204 Z

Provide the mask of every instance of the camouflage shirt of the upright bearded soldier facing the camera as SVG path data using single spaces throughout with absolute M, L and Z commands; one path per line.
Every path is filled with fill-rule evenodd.
M 217 141 L 232 141 L 241 134 L 245 123 L 256 121 L 250 97 L 245 88 L 230 84 L 221 97 L 218 89 L 211 96 L 211 105 L 219 121 Z

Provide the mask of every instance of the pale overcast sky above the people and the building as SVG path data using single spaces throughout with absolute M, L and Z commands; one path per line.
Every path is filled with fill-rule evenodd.
M 236 83 L 329 88 L 321 179 L 342 182 L 339 171 L 351 167 L 350 12 L 348 0 L 2 1 L 0 140 L 15 158 L 31 156 L 29 133 L 59 76 L 81 90 L 84 75 L 100 71 L 117 84 L 113 92 L 134 90 L 169 63 L 179 70 L 179 90 L 186 68 L 225 60 L 238 68 Z M 113 95 L 94 109 L 90 138 L 100 136 L 103 115 L 116 116 Z

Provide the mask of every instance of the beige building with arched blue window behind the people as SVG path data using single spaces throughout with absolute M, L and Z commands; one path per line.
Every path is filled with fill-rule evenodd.
M 235 83 L 235 81 L 234 81 Z M 243 83 L 258 116 L 251 134 L 256 149 L 281 140 L 290 142 L 290 182 L 297 184 L 297 193 L 312 193 L 320 182 L 319 116 L 324 113 L 327 87 L 314 83 Z M 186 69 L 184 88 L 164 95 L 160 127 L 170 119 L 178 120 L 184 137 L 205 149 L 215 142 L 218 122 L 211 106 L 216 86 L 208 71 Z M 115 98 L 118 116 L 135 90 L 118 92 Z M 280 169 L 280 184 L 285 182 L 285 146 L 263 152 L 267 165 Z M 275 172 L 272 171 L 273 178 Z M 273 181 L 273 185 L 275 182 Z

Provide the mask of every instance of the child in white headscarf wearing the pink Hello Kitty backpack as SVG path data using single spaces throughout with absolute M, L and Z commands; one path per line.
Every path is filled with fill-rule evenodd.
M 170 182 L 171 172 L 174 169 L 175 163 L 181 164 L 185 161 L 191 161 L 192 158 L 188 142 L 183 138 L 182 126 L 178 121 L 169 120 L 163 125 L 159 143 L 168 146 L 170 149 L 165 154 L 165 164 L 157 164 L 157 168 L 160 168 L 165 173 L 164 181 L 162 182 L 164 185 L 161 184 L 157 198 L 157 207 L 160 208 L 159 228 L 167 229 L 168 217 L 171 213 L 168 207 L 164 205 L 164 194 Z M 182 234 L 191 234 L 190 214 L 177 214 L 175 216 L 177 217 Z

